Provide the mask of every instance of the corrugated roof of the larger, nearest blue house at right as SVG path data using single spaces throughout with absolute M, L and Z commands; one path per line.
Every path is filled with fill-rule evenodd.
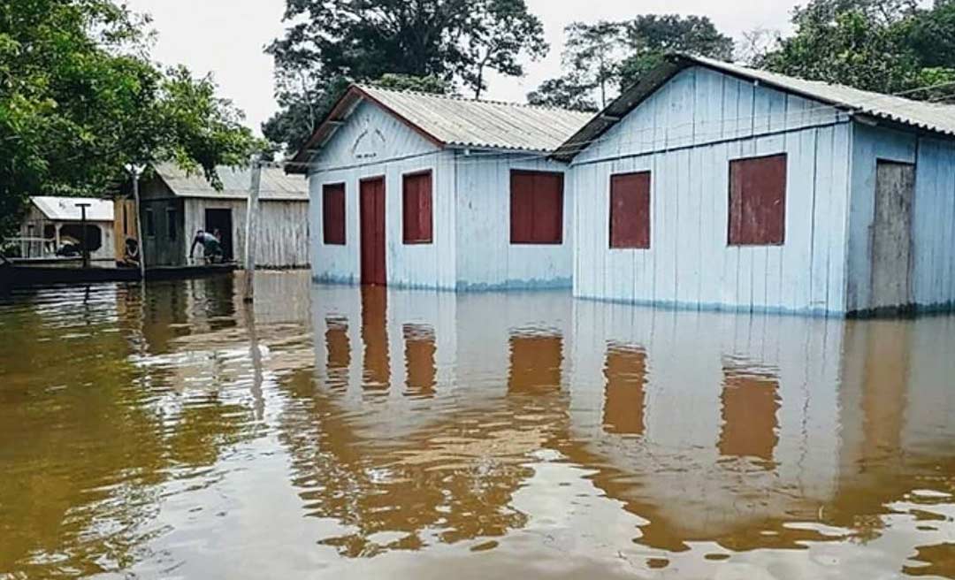
M 778 75 L 703 56 L 671 54 L 664 64 L 626 89 L 603 112 L 564 142 L 555 151 L 554 157 L 563 161 L 573 159 L 590 142 L 598 139 L 620 119 L 626 117 L 670 78 L 693 66 L 706 67 L 726 75 L 759 82 L 779 91 L 832 105 L 849 113 L 888 120 L 941 135 L 955 136 L 955 105 L 893 97 L 844 85 Z

